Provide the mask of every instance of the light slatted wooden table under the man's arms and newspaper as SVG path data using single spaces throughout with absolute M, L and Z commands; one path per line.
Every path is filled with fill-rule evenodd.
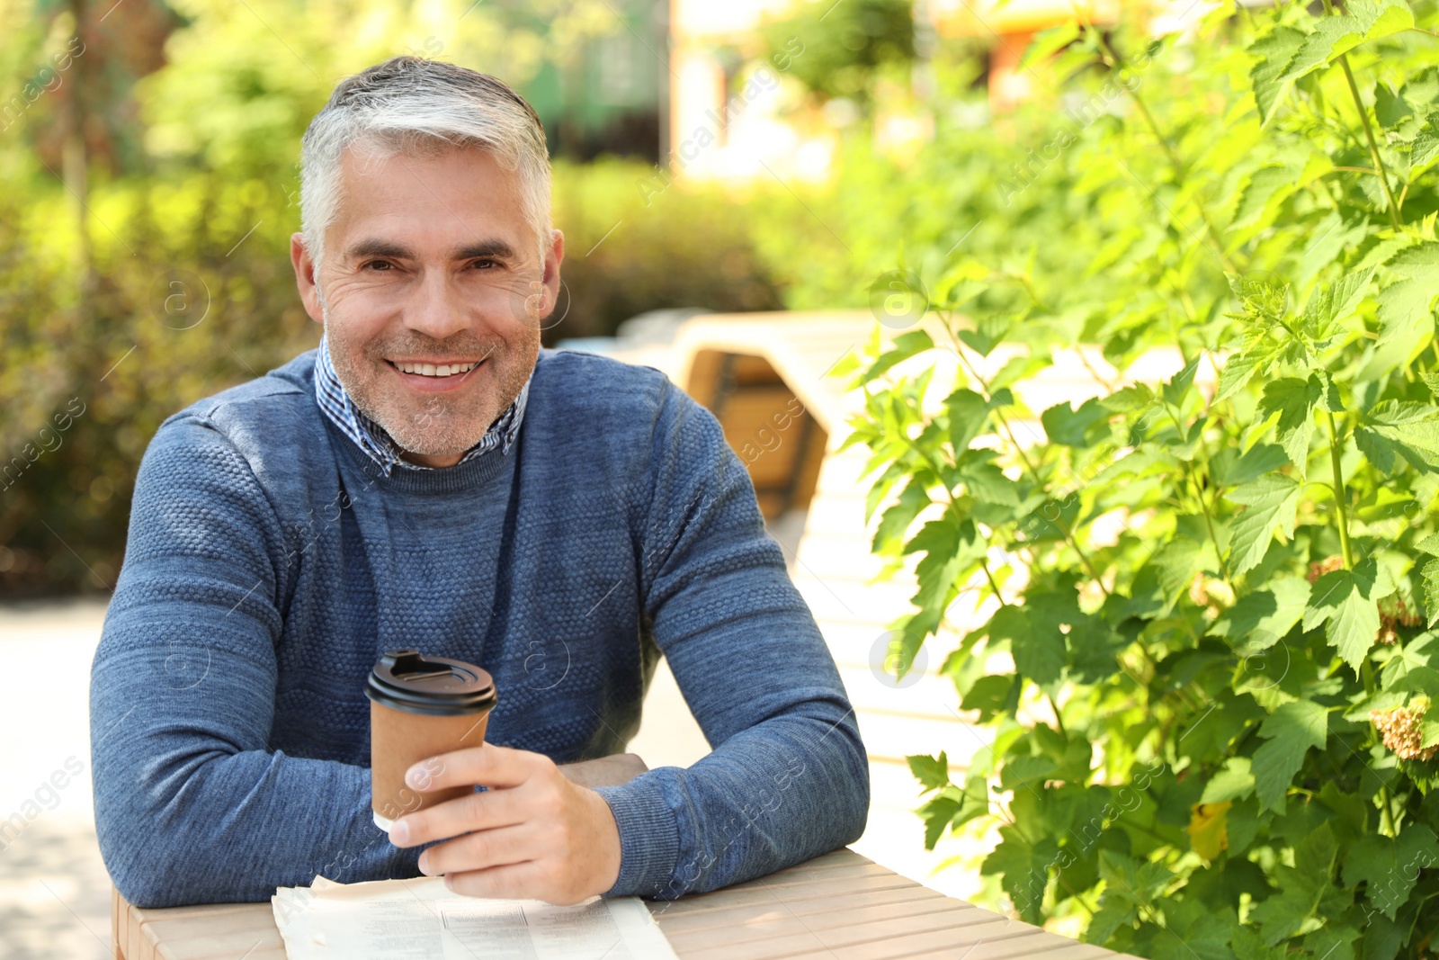
M 268 902 L 141 910 L 115 892 L 114 904 L 115 960 L 285 960 Z M 849 849 L 648 905 L 684 960 L 1134 960 L 953 900 Z

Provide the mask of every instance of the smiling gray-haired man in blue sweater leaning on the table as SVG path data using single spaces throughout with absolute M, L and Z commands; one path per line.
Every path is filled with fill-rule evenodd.
M 564 239 L 528 104 L 389 60 L 315 117 L 301 186 L 318 351 L 165 420 L 137 478 L 91 685 L 119 892 L 672 898 L 858 838 L 852 708 L 717 422 L 655 370 L 540 348 Z M 486 746 L 413 770 L 485 790 L 386 835 L 364 687 L 397 648 L 484 666 L 499 704 Z M 630 779 L 661 653 L 712 753 Z

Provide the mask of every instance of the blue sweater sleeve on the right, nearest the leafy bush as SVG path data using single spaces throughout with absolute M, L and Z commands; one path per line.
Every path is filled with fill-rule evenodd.
M 714 416 L 658 417 L 640 584 L 656 643 L 712 751 L 600 793 L 620 829 L 609 895 L 675 898 L 859 838 L 869 766 L 814 617 Z

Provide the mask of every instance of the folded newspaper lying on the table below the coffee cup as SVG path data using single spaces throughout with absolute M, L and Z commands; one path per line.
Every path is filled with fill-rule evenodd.
M 281 887 L 271 897 L 289 960 L 669 960 L 637 897 L 574 907 L 478 900 L 439 877 Z

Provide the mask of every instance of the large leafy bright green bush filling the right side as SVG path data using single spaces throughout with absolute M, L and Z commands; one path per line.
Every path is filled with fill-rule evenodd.
M 981 872 L 1027 921 L 1156 959 L 1432 956 L 1435 24 L 1350 0 L 1222 7 L 1183 43 L 1055 30 L 1039 108 L 1095 109 L 914 163 L 901 269 L 938 322 L 852 364 L 852 442 L 873 547 L 918 577 L 901 671 L 961 590 L 997 603 L 943 665 L 993 746 L 961 782 L 909 763 L 931 846 L 999 825 Z M 1036 132 L 983 193 L 943 176 Z M 981 377 L 1002 343 L 1026 356 Z M 1183 368 L 1101 379 L 1029 443 L 1013 387 L 1078 343 Z M 958 383 L 925 403 L 931 351 Z

